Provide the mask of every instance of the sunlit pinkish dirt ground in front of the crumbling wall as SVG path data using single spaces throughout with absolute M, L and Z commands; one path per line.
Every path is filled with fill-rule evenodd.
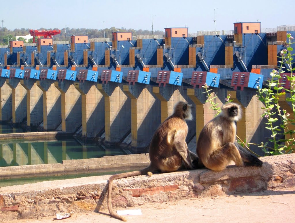
M 142 215 L 125 215 L 128 222 L 295 222 L 295 188 L 248 194 L 193 198 L 169 203 L 145 204 Z M 54 217 L 12 222 L 121 222 L 103 213 L 74 213 L 70 218 Z

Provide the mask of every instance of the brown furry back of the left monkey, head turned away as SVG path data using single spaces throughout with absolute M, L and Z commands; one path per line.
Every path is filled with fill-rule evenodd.
M 187 135 L 186 121 L 179 117 L 168 117 L 155 131 L 150 143 L 150 162 L 162 172 L 176 171 L 182 158 L 174 146 L 175 134 Z

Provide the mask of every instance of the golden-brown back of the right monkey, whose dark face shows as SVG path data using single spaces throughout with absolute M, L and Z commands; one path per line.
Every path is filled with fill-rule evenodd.
M 201 160 L 206 160 L 216 149 L 226 143 L 235 142 L 235 122 L 218 115 L 208 122 L 201 130 L 196 153 Z

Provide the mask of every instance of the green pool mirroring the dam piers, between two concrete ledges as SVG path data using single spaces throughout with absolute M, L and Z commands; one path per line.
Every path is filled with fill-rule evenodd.
M 108 150 L 96 143 L 81 145 L 74 139 L 46 142 L 6 142 L 0 144 L 0 167 L 55 164 L 69 159 L 99 158 L 125 154 L 120 148 Z

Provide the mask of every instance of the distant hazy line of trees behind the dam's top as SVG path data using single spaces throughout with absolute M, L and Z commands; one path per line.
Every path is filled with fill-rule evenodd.
M 29 31 L 30 29 L 27 28 L 21 28 L 21 29 L 14 29 L 14 30 L 9 30 L 6 27 L 1 27 L 0 29 L 0 45 L 8 45 L 9 41 L 24 41 L 26 40 L 24 38 L 18 38 L 16 39 L 16 36 L 25 36 L 30 34 Z M 40 28 L 38 30 L 59 30 L 58 28 Z M 2 32 L 2 33 L 1 33 Z M 70 40 L 71 35 L 87 35 L 89 39 L 91 38 L 112 38 L 112 33 L 113 32 L 131 32 L 132 36 L 137 36 L 137 35 L 164 35 L 164 31 L 160 30 L 155 30 L 152 32 L 152 30 L 135 30 L 135 29 L 127 29 L 127 28 L 105 28 L 105 29 L 86 29 L 86 28 L 68 28 L 65 27 L 63 29 L 60 29 L 60 34 L 53 36 L 53 41 L 61 41 L 61 40 Z M 2 34 L 2 36 L 1 36 Z M 33 42 L 33 38 L 31 38 L 29 43 Z

